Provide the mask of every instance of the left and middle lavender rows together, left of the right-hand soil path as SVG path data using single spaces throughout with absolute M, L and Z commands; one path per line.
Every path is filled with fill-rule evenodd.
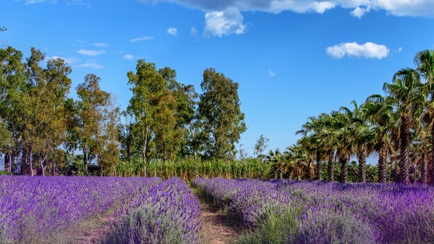
M 177 178 L 2 176 L 0 243 L 59 243 L 55 234 L 109 209 L 105 243 L 194 243 L 201 227 L 198 200 Z

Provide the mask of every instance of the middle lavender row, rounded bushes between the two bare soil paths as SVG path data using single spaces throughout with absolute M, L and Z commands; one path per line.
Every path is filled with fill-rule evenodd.
M 201 227 L 198 198 L 172 178 L 123 202 L 103 243 L 198 243 Z

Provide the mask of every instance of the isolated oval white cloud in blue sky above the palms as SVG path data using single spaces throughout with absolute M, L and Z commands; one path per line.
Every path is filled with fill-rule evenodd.
M 348 57 L 356 58 L 378 58 L 381 60 L 389 55 L 390 50 L 387 46 L 367 42 L 358 44 L 356 42 L 341 43 L 336 46 L 327 47 L 327 54 L 333 58 Z

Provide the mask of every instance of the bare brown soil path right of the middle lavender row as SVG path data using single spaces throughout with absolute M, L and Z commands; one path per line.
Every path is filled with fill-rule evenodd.
M 236 241 L 242 232 L 241 224 L 222 210 L 209 202 L 197 189 L 191 189 L 198 195 L 202 213 L 201 241 L 207 244 L 226 244 Z

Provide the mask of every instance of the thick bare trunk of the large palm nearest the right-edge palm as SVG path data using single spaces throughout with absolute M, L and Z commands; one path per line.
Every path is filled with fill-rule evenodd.
M 408 146 L 410 143 L 410 118 L 409 116 L 401 116 L 401 130 L 399 132 L 400 145 L 399 150 L 401 153 L 399 155 L 399 180 L 403 184 L 410 184 L 409 169 L 409 152 Z

